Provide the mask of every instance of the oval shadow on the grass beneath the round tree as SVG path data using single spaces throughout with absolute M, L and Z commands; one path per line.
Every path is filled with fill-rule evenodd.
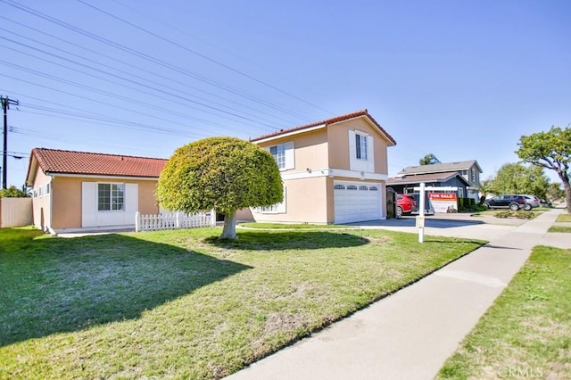
M 352 232 L 359 232 L 355 229 Z M 310 250 L 319 248 L 345 248 L 368 244 L 368 240 L 347 232 L 347 229 L 327 231 L 308 230 L 239 230 L 238 240 L 208 237 L 206 243 L 225 249 L 246 251 Z

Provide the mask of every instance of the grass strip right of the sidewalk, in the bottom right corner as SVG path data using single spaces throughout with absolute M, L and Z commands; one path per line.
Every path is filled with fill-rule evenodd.
M 571 250 L 539 246 L 440 378 L 571 378 Z

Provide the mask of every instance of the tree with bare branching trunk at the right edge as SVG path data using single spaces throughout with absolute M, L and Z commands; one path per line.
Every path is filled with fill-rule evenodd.
M 555 170 L 566 192 L 567 213 L 571 214 L 571 128 L 551 127 L 548 132 L 537 132 L 519 139 L 517 156 L 533 165 Z

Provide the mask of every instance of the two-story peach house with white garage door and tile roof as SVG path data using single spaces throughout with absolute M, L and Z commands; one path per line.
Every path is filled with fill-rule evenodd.
M 256 221 L 385 219 L 387 148 L 396 142 L 367 110 L 251 141 L 274 156 L 284 181 L 284 201 L 253 209 Z

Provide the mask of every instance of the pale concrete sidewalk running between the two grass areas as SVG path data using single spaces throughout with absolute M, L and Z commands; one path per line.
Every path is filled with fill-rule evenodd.
M 414 285 L 253 363 L 228 379 L 428 379 L 537 244 L 571 248 L 547 230 L 560 210 L 493 238 Z

